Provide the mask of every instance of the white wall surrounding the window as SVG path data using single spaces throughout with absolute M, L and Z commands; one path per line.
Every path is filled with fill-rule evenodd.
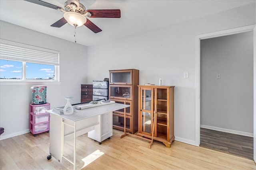
M 0 38 L 60 51 L 61 83 L 45 84 L 47 102 L 51 107 L 64 106 L 64 98 L 74 96 L 74 103 L 80 103 L 81 84 L 87 83 L 87 47 L 4 21 L 0 21 Z M 28 132 L 30 87 L 34 85 L 0 84 L 0 127 L 4 127 L 1 139 Z

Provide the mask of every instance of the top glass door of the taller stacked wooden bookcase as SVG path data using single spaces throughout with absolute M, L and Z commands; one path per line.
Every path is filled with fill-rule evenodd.
M 110 70 L 110 84 L 132 84 L 132 70 Z

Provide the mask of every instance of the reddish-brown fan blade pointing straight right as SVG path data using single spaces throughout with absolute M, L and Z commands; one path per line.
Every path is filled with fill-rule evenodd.
M 90 18 L 121 18 L 120 10 L 86 10 L 90 12 L 92 16 Z

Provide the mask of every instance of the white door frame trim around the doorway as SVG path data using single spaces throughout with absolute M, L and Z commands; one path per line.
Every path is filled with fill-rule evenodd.
M 195 108 L 195 144 L 196 146 L 200 145 L 200 41 L 202 39 L 210 39 L 214 37 L 222 37 L 226 35 L 233 35 L 233 34 L 238 34 L 238 33 L 243 33 L 247 31 L 253 31 L 253 45 L 254 45 L 254 58 L 253 58 L 253 65 L 254 65 L 254 70 L 253 70 L 253 82 L 254 82 L 254 109 L 253 109 L 253 119 L 254 119 L 254 161 L 256 162 L 256 24 L 254 25 L 248 25 L 244 27 L 237 27 L 233 29 L 226 29 L 222 31 L 216 31 L 212 33 L 205 33 L 201 35 L 196 35 L 196 72 L 195 72 L 195 77 L 196 77 L 196 108 Z

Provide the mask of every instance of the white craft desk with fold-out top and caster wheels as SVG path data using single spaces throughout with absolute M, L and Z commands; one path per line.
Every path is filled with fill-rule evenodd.
M 71 115 L 50 113 L 50 154 L 59 162 L 65 158 L 76 169 L 76 137 L 88 133 L 88 137 L 101 143 L 113 135 L 112 111 L 130 107 L 124 104 L 108 104 L 77 110 Z M 64 142 L 74 139 L 73 162 L 63 155 Z

